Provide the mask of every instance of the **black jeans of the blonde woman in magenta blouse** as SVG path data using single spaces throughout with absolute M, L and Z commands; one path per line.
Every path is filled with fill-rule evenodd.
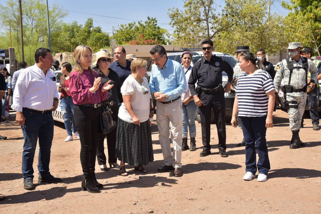
M 100 129 L 100 107 L 75 105 L 75 123 L 80 137 L 80 163 L 84 176 L 95 172 L 95 159 Z

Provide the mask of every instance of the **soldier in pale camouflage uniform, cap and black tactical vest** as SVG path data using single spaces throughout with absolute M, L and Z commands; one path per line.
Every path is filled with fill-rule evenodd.
M 300 56 L 300 46 L 299 42 L 289 43 L 287 49 L 290 58 L 282 60 L 274 77 L 276 98 L 283 79 L 281 90 L 288 106 L 292 149 L 301 146 L 299 129 L 307 100 L 307 88 L 313 88 L 317 80 L 317 68 L 310 59 Z M 308 82 L 308 72 L 311 74 L 310 82 Z

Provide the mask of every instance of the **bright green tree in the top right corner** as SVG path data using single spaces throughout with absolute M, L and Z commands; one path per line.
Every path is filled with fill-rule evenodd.
M 321 1 L 291 0 L 291 3 L 282 2 L 282 6 L 291 11 L 285 18 L 284 33 L 289 35 L 288 41 L 314 47 L 321 56 Z

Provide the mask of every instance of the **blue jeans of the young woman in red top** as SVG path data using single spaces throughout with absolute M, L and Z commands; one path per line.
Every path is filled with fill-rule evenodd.
M 62 97 L 60 99 L 60 106 L 61 106 L 61 112 L 62 112 L 62 115 L 64 117 L 64 123 L 65 123 L 65 127 L 66 127 L 66 130 L 67 130 L 67 134 L 68 135 L 73 135 L 72 133 L 72 130 L 73 129 L 73 132 L 76 132 L 77 131 L 77 127 L 75 125 L 75 115 L 74 115 L 74 107 L 75 107 L 75 104 L 73 103 L 73 98 L 70 96 L 70 97 Z M 72 118 L 72 124 L 71 124 L 71 118 Z M 71 128 L 72 126 L 72 128 Z

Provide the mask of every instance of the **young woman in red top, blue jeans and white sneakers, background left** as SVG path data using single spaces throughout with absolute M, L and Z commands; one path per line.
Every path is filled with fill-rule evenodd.
M 69 62 L 64 62 L 61 65 L 61 73 L 64 75 L 60 78 L 60 85 L 58 87 L 58 91 L 60 94 L 60 107 L 62 111 L 62 115 L 64 117 L 64 123 L 67 130 L 67 138 L 65 142 L 73 140 L 73 135 L 76 138 L 79 138 L 79 134 L 77 132 L 77 127 L 75 125 L 75 115 L 74 115 L 74 107 L 73 98 L 70 95 L 69 91 L 69 75 L 72 68 Z M 72 122 L 71 122 L 72 121 Z

